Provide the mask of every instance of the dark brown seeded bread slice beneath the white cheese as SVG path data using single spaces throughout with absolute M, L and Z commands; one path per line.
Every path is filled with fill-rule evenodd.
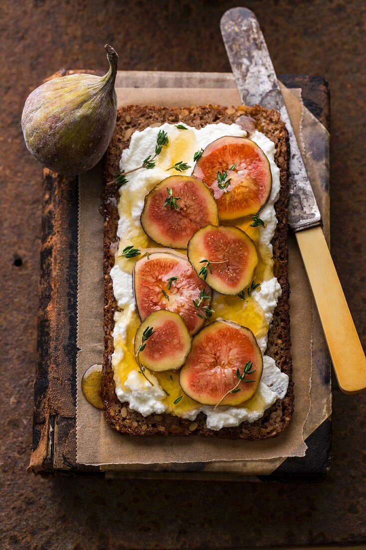
M 180 419 L 170 414 L 142 416 L 132 411 L 128 403 L 121 403 L 115 394 L 115 384 L 111 365 L 113 353 L 114 312 L 118 310 L 113 294 L 110 270 L 114 265 L 117 244 L 118 190 L 116 186 L 104 185 L 104 369 L 102 397 L 104 415 L 110 427 L 121 433 L 146 436 L 162 435 L 201 435 L 225 437 L 231 439 L 263 439 L 273 437 L 289 425 L 293 412 L 293 382 L 291 380 L 292 361 L 290 355 L 290 317 L 289 317 L 289 281 L 287 277 L 287 175 L 289 169 L 289 140 L 285 124 L 279 113 L 263 107 L 238 107 L 237 109 L 206 105 L 187 108 L 165 108 L 146 106 L 127 106 L 119 109 L 117 124 L 112 141 L 104 155 L 104 183 L 112 181 L 119 172 L 121 153 L 129 147 L 131 135 L 135 130 L 149 126 L 159 126 L 164 122 L 186 123 L 196 128 L 207 124 L 223 122 L 232 124 L 238 117 L 239 122 L 262 131 L 274 141 L 276 147 L 275 162 L 280 168 L 281 190 L 275 204 L 278 225 L 273 240 L 274 275 L 282 288 L 282 295 L 274 312 L 273 322 L 268 333 L 266 353 L 273 357 L 281 371 L 289 375 L 287 394 L 278 399 L 262 418 L 256 422 L 242 422 L 240 426 L 222 428 L 219 431 L 206 427 L 206 416 L 200 413 L 195 421 Z

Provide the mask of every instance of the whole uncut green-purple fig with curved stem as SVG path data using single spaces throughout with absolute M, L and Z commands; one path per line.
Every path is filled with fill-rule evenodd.
M 73 74 L 49 80 L 27 98 L 21 127 L 32 155 L 54 172 L 78 174 L 99 162 L 117 118 L 118 55 L 107 50 L 104 76 Z

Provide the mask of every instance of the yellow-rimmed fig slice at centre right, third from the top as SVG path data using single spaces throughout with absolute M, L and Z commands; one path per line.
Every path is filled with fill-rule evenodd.
M 253 280 L 258 252 L 252 239 L 233 226 L 205 226 L 188 243 L 196 273 L 221 294 L 239 294 Z

